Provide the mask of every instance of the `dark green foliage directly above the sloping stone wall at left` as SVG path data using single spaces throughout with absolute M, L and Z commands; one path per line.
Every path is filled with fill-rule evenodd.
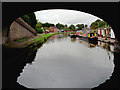
M 37 20 L 36 20 L 36 16 L 34 14 L 34 12 L 32 13 L 28 13 L 28 14 L 24 14 L 23 16 L 21 16 L 23 18 L 23 20 L 25 20 L 31 27 L 35 28 L 35 25 L 37 24 Z

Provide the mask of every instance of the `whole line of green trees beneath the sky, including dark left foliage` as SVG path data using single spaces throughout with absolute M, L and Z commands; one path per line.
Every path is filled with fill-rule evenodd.
M 71 24 L 70 26 L 68 26 L 67 24 L 61 24 L 61 23 L 57 23 L 52 24 L 52 23 L 42 23 L 38 20 L 36 20 L 36 16 L 34 14 L 34 12 L 32 13 L 28 13 L 28 14 L 24 14 L 22 16 L 22 18 L 30 25 L 32 26 L 38 33 L 42 33 L 43 30 L 49 30 L 49 27 L 53 26 L 53 27 L 57 27 L 58 29 L 63 29 L 64 31 L 77 31 L 77 30 L 82 30 L 83 28 L 88 27 L 86 24 L 77 24 L 77 25 L 73 25 Z M 95 22 L 92 22 L 90 25 L 90 28 L 92 29 L 97 29 L 97 28 L 105 28 L 105 27 L 109 27 L 109 25 L 100 19 L 97 19 Z

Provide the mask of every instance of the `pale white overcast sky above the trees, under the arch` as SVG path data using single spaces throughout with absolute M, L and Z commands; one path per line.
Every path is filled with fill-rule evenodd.
M 42 23 L 61 23 L 67 24 L 87 24 L 88 26 L 97 19 L 100 19 L 94 15 L 66 9 L 50 9 L 35 12 L 37 20 Z

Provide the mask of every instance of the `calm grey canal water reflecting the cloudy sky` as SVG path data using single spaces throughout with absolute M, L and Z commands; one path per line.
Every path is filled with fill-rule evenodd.
M 37 50 L 17 82 L 27 88 L 93 88 L 114 70 L 114 47 L 57 34 Z

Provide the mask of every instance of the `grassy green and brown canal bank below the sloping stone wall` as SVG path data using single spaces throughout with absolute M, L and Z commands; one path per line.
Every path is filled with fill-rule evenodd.
M 37 36 L 11 41 L 2 46 L 7 48 L 25 48 L 25 47 L 33 48 L 38 45 L 42 45 L 45 41 L 47 41 L 49 37 L 55 34 L 59 33 L 37 34 Z

